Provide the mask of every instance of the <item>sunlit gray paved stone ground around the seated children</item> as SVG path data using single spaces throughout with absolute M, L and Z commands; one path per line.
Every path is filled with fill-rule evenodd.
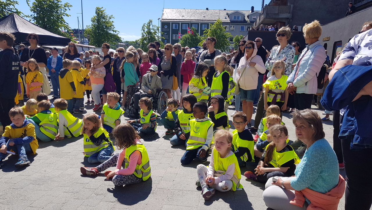
M 86 106 L 84 114 L 92 112 L 92 108 L 92 105 Z M 233 109 L 230 106 L 228 111 L 230 120 Z M 320 115 L 323 112 L 316 110 Z M 122 123 L 128 119 L 123 116 Z M 294 140 L 294 126 L 288 113 L 284 113 L 283 122 L 287 125 L 289 139 Z M 230 124 L 234 128 L 231 121 Z M 325 138 L 332 145 L 332 121 L 323 125 Z M 96 177 L 81 175 L 81 166 L 96 166 L 89 164 L 82 154 L 82 136 L 58 142 L 39 142 L 37 154 L 29 156 L 32 163 L 28 167 L 15 168 L 17 156 L 8 156 L 0 169 L 0 209 L 266 209 L 262 200 L 264 184 L 244 179 L 244 176 L 241 179 L 242 191 L 217 191 L 210 201 L 205 201 L 201 188 L 195 186 L 199 162 L 194 160 L 192 164 L 182 166 L 180 159 L 185 146 L 171 146 L 171 135 L 164 136 L 165 129 L 161 123 L 157 132 L 158 141 L 144 142 L 151 160 L 151 178 L 137 185 L 115 187 L 111 181 L 105 180 L 103 174 Z M 243 174 L 245 170 L 242 168 L 241 172 Z M 340 173 L 344 175 L 344 170 L 341 169 Z M 344 197 L 339 204 L 341 209 L 344 209 Z

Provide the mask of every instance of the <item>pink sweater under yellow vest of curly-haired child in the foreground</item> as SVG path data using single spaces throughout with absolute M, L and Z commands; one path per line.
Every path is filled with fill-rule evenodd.
M 139 139 L 136 139 L 136 143 L 142 144 Z M 119 154 L 118 163 L 116 164 L 116 168 L 119 170 L 115 172 L 117 175 L 131 175 L 136 169 L 136 166 L 142 163 L 141 153 L 136 150 L 129 156 L 129 166 L 126 169 L 121 169 L 121 165 L 125 158 L 125 150 L 126 149 L 122 150 Z

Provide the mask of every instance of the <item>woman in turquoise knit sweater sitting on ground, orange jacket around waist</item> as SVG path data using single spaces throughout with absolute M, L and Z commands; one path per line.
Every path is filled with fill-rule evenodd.
M 345 180 L 339 175 L 337 156 L 324 138 L 320 116 L 311 109 L 296 110 L 292 115 L 296 137 L 307 145 L 307 151 L 296 167 L 295 176 L 267 180 L 263 201 L 275 210 L 301 210 L 309 205 L 337 209 L 345 191 Z

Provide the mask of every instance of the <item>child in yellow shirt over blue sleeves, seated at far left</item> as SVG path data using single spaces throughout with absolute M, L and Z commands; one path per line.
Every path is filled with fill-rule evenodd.
M 0 166 L 3 165 L 3 160 L 8 155 L 7 151 L 18 154 L 16 167 L 28 165 L 31 162 L 27 159 L 27 154 L 36 154 L 36 149 L 39 147 L 35 126 L 25 119 L 19 107 L 10 109 L 9 117 L 12 124 L 5 127 L 4 134 L 0 138 Z

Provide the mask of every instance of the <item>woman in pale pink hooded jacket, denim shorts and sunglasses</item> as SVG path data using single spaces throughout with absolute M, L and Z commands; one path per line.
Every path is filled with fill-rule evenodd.
M 247 127 L 250 128 L 253 115 L 253 100 L 258 83 L 258 72 L 265 73 L 266 69 L 262 58 L 257 55 L 256 43 L 248 40 L 245 48 L 246 53 L 240 59 L 236 79 L 239 83 L 242 109 L 244 114 L 247 115 Z

